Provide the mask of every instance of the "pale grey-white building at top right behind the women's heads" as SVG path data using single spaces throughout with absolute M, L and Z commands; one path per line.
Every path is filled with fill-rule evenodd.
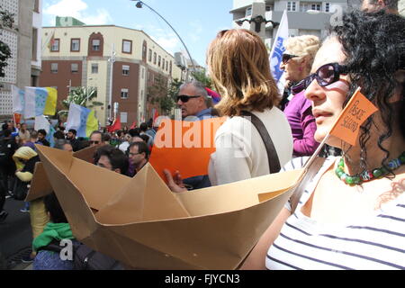
M 326 36 L 326 27 L 331 16 L 341 14 L 347 10 L 347 0 L 233 0 L 233 8 L 230 14 L 233 15 L 234 28 L 250 29 L 250 23 L 238 25 L 239 20 L 251 19 L 257 12 L 252 11 L 254 2 L 264 2 L 263 13 L 266 20 L 280 23 L 284 10 L 287 11 L 288 26 L 290 36 L 315 35 L 321 39 Z M 333 18 L 332 18 L 333 19 Z M 264 24 L 265 25 L 265 24 Z M 265 42 L 271 48 L 278 27 L 273 27 L 272 23 L 266 24 Z

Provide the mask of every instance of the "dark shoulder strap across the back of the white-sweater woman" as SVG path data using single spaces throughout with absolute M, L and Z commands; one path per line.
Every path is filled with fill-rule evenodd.
M 260 137 L 265 143 L 270 174 L 280 172 L 280 159 L 278 158 L 277 151 L 275 150 L 275 144 L 266 130 L 265 124 L 263 124 L 263 122 L 252 112 L 242 111 L 241 113 L 243 116 L 247 116 L 244 117 L 245 119 L 252 122 L 253 126 L 256 127 Z

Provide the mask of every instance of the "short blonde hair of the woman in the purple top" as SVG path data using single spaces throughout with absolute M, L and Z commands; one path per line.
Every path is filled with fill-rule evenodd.
M 305 69 L 310 74 L 313 59 L 320 49 L 320 39 L 313 35 L 290 37 L 285 43 L 285 48 L 293 55 L 307 58 Z

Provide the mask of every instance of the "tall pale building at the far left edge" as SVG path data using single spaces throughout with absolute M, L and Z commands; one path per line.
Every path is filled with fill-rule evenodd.
M 38 86 L 41 69 L 41 0 L 3 0 L 2 9 L 14 14 L 14 28 L 4 28 L 0 40 L 9 46 L 4 77 L 0 77 L 0 116 L 13 114 L 11 85 Z

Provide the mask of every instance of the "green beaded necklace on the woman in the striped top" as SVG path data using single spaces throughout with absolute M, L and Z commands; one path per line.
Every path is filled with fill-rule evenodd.
M 395 170 L 396 168 L 398 168 L 399 166 L 404 165 L 404 164 L 405 164 L 405 151 L 402 152 L 400 157 L 391 160 L 388 163 L 388 167 L 391 170 Z M 381 178 L 381 177 L 387 175 L 388 173 L 390 173 L 390 171 L 388 171 L 387 168 L 382 166 L 379 168 L 375 168 L 372 171 L 364 171 L 364 172 L 362 172 L 360 174 L 356 174 L 356 175 L 347 175 L 345 173 L 344 168 L 345 168 L 345 161 L 343 160 L 343 157 L 342 157 L 338 163 L 338 167 L 336 168 L 335 173 L 336 173 L 336 175 L 338 175 L 340 180 L 342 180 L 343 182 L 345 182 L 346 184 L 349 184 L 349 185 L 362 184 L 363 182 L 371 181 L 376 178 Z

